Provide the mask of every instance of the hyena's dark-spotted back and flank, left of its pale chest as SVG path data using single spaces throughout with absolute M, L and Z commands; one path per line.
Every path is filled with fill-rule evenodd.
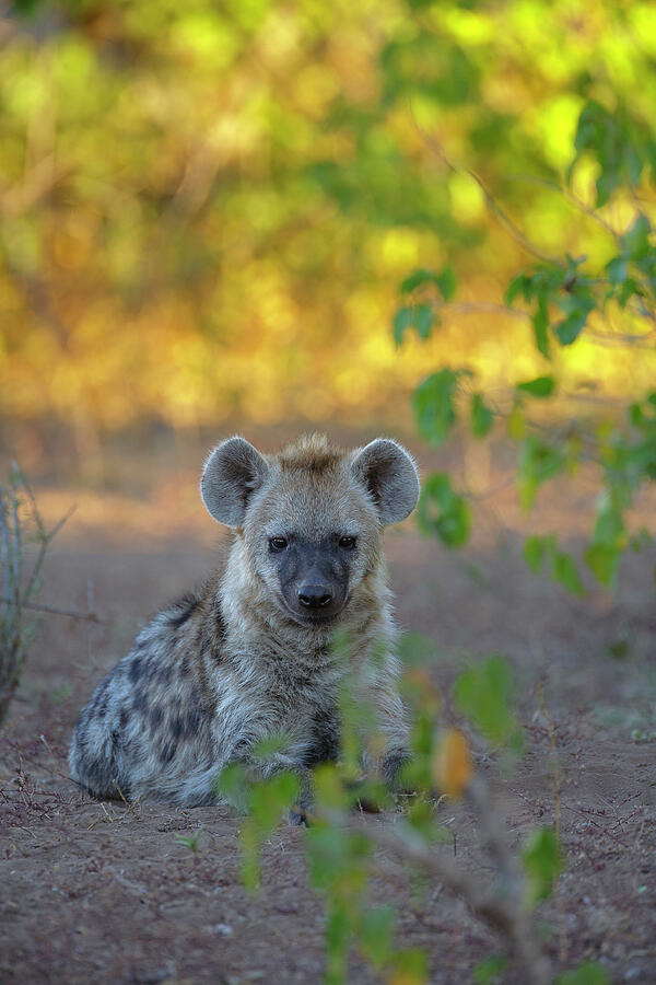
M 71 776 L 102 798 L 212 799 L 213 665 L 222 625 L 203 594 L 161 612 L 101 681 L 73 731 Z M 213 625 L 212 625 L 213 624 Z M 200 789 L 200 788 L 201 789 Z

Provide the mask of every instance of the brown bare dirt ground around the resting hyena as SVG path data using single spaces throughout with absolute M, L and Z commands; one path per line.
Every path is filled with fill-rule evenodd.
M 496 489 L 471 546 L 446 552 L 412 523 L 387 535 L 398 619 L 435 640 L 444 694 L 467 661 L 492 652 L 512 661 L 526 751 L 495 786 L 513 846 L 554 823 L 553 725 L 566 868 L 540 932 L 555 967 L 595 960 L 613 982 L 654 983 L 654 551 L 625 558 L 616 595 L 590 582 L 574 599 L 526 568 L 527 521 L 503 470 L 465 464 Z M 85 609 L 91 599 L 106 623 L 43 618 L 0 735 L 0 981 L 319 983 L 324 911 L 307 885 L 303 831 L 277 831 L 253 895 L 239 882 L 242 822 L 227 809 L 105 804 L 67 777 L 71 728 L 96 682 L 148 615 L 212 565 L 220 535 L 194 468 L 151 473 L 148 482 L 119 473 L 114 491 L 68 479 L 38 488 L 48 519 L 78 501 L 47 559 L 42 600 Z M 642 506 L 647 526 L 653 506 Z M 542 497 L 535 523 L 563 531 L 576 552 L 589 509 L 579 479 Z M 440 810 L 462 865 L 487 866 L 467 812 L 448 802 Z M 176 841 L 199 830 L 196 853 Z M 446 889 L 429 884 L 420 899 L 403 867 L 383 853 L 378 860 L 376 903 L 397 905 L 398 943 L 427 950 L 431 982 L 472 981 L 499 941 Z M 352 981 L 379 980 L 354 954 Z M 522 978 L 511 969 L 500 981 Z

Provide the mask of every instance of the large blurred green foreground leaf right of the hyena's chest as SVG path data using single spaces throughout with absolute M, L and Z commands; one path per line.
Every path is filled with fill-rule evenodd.
M 456 680 L 454 698 L 459 710 L 492 742 L 522 749 L 522 731 L 512 712 L 513 673 L 507 660 L 494 656 Z

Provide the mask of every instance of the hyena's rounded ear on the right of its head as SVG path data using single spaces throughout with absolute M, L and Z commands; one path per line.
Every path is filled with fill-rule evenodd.
M 382 523 L 398 523 L 417 506 L 417 465 L 396 441 L 377 438 L 370 442 L 356 453 L 351 467 L 359 482 L 368 489 Z

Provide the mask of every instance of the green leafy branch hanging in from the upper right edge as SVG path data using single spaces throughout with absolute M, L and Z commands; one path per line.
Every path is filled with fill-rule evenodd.
M 553 366 L 554 346 L 566 352 L 584 334 L 597 344 L 653 345 L 656 332 L 654 228 L 637 200 L 634 200 L 633 219 L 624 232 L 611 227 L 599 210 L 613 195 L 635 189 L 641 176 L 652 167 L 654 140 L 645 136 L 622 108 L 613 116 L 598 103 L 590 102 L 581 113 L 567 181 L 581 160 L 596 159 L 599 166 L 596 206 L 587 207 L 566 186 L 561 190 L 569 202 L 604 227 L 612 236 L 616 251 L 601 268 L 589 270 L 586 256 L 547 256 L 508 220 L 471 169 L 454 163 L 440 146 L 424 137 L 450 170 L 477 182 L 493 215 L 502 220 L 513 239 L 540 262 L 516 275 L 506 288 L 504 304 L 494 305 L 454 303 L 456 279 L 450 267 L 442 271 L 422 268 L 411 273 L 399 286 L 402 308 L 394 320 L 397 345 L 402 344 L 405 334 L 411 329 L 420 338 L 427 339 L 438 328 L 444 312 L 467 314 L 485 310 L 529 321 L 535 347 L 551 364 L 542 375 L 517 382 L 509 399 L 501 406 L 477 389 L 469 368 L 438 369 L 417 387 L 412 396 L 420 433 L 430 444 L 438 447 L 450 437 L 458 421 L 467 422 L 477 439 L 484 439 L 495 421 L 503 421 L 508 437 L 517 445 L 515 484 L 525 510 L 532 508 L 544 483 L 575 471 L 584 462 L 593 463 L 597 468 L 599 494 L 584 558 L 600 583 L 612 586 L 626 547 L 640 549 L 651 541 L 646 531 L 630 535 L 625 517 L 635 494 L 656 477 L 656 390 L 624 406 L 623 419 L 596 419 L 590 427 L 588 421 L 578 418 L 570 421 L 561 434 L 532 420 L 530 409 L 534 402 L 555 401 L 562 392 Z M 558 187 L 553 183 L 550 186 Z M 517 306 L 518 302 L 520 306 Z M 623 322 L 619 332 L 613 324 L 616 318 Z M 599 331 L 599 322 L 610 325 L 610 331 Z M 455 490 L 446 474 L 429 476 L 419 509 L 421 529 L 438 536 L 448 547 L 465 544 L 472 523 L 470 500 L 476 498 L 480 498 L 480 494 L 473 497 Z M 559 547 L 553 534 L 528 537 L 525 558 L 536 571 L 549 561 L 557 581 L 570 591 L 583 594 L 584 584 L 576 563 Z

